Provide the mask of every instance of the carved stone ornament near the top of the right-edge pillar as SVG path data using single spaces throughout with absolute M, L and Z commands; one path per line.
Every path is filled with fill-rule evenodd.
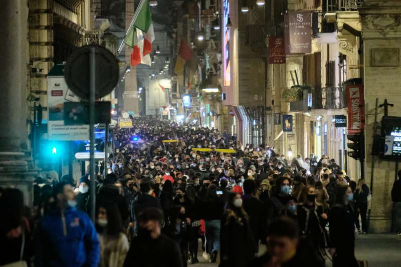
M 401 31 L 401 16 L 381 14 L 362 17 L 363 26 L 368 30 L 377 30 L 386 37 L 390 31 Z

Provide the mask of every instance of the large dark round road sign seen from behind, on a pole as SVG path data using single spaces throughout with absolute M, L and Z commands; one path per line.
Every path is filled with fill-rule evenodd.
M 90 45 L 74 50 L 68 57 L 64 68 L 68 87 L 82 99 L 89 99 L 89 54 L 95 48 L 96 64 L 96 99 L 102 98 L 113 91 L 118 82 L 118 63 L 114 55 L 102 46 Z

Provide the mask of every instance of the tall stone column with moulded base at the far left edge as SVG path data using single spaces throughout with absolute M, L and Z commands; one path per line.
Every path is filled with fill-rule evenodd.
M 21 0 L 5 0 L 0 9 L 0 186 L 17 187 L 24 192 L 25 203 L 32 203 L 32 180 L 21 144 L 25 142 L 27 86 L 27 23 L 28 4 Z

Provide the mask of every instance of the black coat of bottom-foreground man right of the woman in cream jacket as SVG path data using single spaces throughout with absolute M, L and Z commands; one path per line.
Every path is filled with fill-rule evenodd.
M 181 251 L 177 242 L 163 234 L 155 240 L 137 236 L 124 262 L 124 267 L 132 266 L 182 267 Z

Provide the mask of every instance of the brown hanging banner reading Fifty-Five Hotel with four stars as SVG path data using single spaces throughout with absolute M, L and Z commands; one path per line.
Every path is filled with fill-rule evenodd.
M 311 53 L 312 22 L 310 12 L 288 12 L 284 17 L 285 54 Z

